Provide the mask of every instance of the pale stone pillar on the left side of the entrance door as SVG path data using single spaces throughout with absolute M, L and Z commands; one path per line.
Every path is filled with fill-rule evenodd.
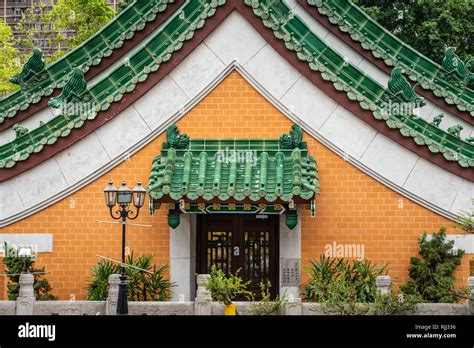
M 196 215 L 181 214 L 181 222 L 170 228 L 170 281 L 172 301 L 193 301 L 196 274 Z

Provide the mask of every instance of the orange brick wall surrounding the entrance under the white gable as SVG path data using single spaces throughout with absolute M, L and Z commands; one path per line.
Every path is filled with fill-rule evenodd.
M 290 129 L 291 122 L 256 92 L 237 72 L 233 72 L 210 95 L 185 115 L 178 127 L 192 137 L 277 138 Z M 51 207 L 4 229 L 1 233 L 52 233 L 54 252 L 40 254 L 54 294 L 60 299 L 74 295 L 82 299 L 89 269 L 98 261 L 96 254 L 120 258 L 121 230 L 110 221 L 102 190 L 108 179 L 115 184 L 126 180 L 147 182 L 154 156 L 161 150 L 164 134 L 129 160 Z M 417 254 L 417 240 L 427 230 L 437 231 L 453 223 L 384 187 L 316 140 L 304 135 L 320 172 L 321 195 L 317 216 L 302 214 L 303 266 L 319 258 L 326 244 L 365 245 L 365 257 L 389 262 L 390 275 L 399 283 L 407 278 L 411 256 Z M 403 207 L 401 207 L 403 205 Z M 158 263 L 169 262 L 169 228 L 164 211 L 151 217 L 144 208 L 137 223 L 152 228 L 129 227 L 127 246 L 135 253 L 153 253 Z M 470 256 L 470 259 L 474 259 Z M 456 275 L 465 284 L 469 273 L 465 257 Z M 303 274 L 303 280 L 306 280 Z

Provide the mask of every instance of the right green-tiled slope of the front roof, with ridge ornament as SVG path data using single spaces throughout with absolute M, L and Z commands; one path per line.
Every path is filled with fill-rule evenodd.
M 390 102 L 424 103 L 403 75 L 397 76 L 397 68 L 390 87 L 385 88 L 311 32 L 306 23 L 292 13 L 285 1 L 245 0 L 245 3 L 253 8 L 266 27 L 273 30 L 276 38 L 283 40 L 289 50 L 309 64 L 311 70 L 319 71 L 324 80 L 332 82 L 337 90 L 346 92 L 347 97 L 359 102 L 362 109 L 372 111 L 374 118 L 384 120 L 390 128 L 399 129 L 403 136 L 413 138 L 418 145 L 428 146 L 434 153 L 442 153 L 448 161 L 457 161 L 462 167 L 474 167 L 474 146 L 468 141 L 421 118 L 402 112 L 388 113 L 387 105 Z

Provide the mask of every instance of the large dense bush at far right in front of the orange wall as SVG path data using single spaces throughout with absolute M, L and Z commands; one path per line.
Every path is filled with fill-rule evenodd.
M 467 298 L 468 289 L 456 289 L 453 275 L 464 250 L 455 249 L 454 241 L 446 241 L 446 228 L 441 227 L 431 238 L 423 233 L 419 244 L 421 258 L 411 258 L 411 279 L 400 290 L 407 295 L 420 295 L 426 303 L 456 303 Z

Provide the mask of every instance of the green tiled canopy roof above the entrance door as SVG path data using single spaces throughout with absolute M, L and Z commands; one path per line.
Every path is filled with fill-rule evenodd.
M 155 202 L 301 203 L 319 194 L 319 176 L 297 125 L 280 139 L 189 139 L 173 125 L 148 192 Z

